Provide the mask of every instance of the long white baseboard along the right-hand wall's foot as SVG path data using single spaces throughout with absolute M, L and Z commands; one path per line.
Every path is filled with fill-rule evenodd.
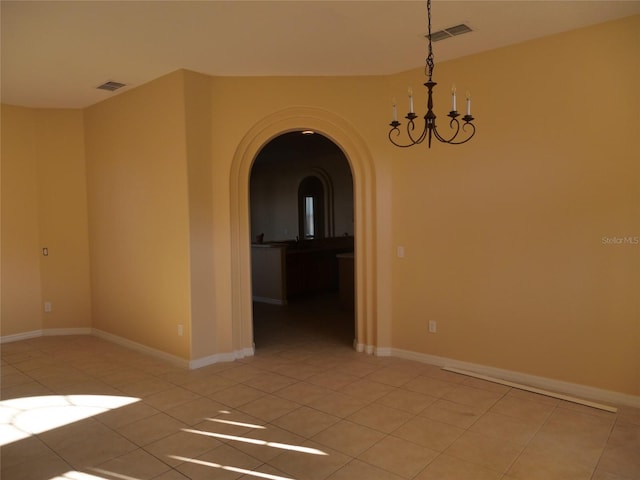
M 513 383 L 520 383 L 544 390 L 564 393 L 587 400 L 596 400 L 599 402 L 611 403 L 613 405 L 625 405 L 629 407 L 640 408 L 640 397 L 635 395 L 628 395 L 625 393 L 613 392 L 611 390 L 589 387 L 577 383 L 564 382 L 561 380 L 554 380 L 552 378 L 539 377 L 536 375 L 529 375 L 527 373 L 504 370 L 501 368 L 489 367 L 477 363 L 463 362 L 451 358 L 428 355 L 425 353 L 417 353 L 398 348 L 381 350 L 389 350 L 390 354 L 394 357 L 414 360 L 420 363 L 428 363 L 431 365 L 436 365 L 438 367 L 452 367 L 461 370 L 468 370 L 470 372 L 485 375 L 487 377 L 494 377 Z

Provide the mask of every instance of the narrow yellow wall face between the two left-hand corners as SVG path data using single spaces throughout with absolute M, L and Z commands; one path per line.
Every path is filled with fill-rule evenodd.
M 81 110 L 36 112 L 38 218 L 44 329 L 90 328 L 91 279 Z

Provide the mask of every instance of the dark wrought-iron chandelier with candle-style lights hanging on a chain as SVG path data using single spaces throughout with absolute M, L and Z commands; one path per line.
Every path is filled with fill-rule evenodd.
M 425 139 L 428 139 L 427 144 L 429 148 L 431 148 L 431 138 L 435 137 L 438 141 L 443 143 L 448 143 L 450 145 L 460 145 L 462 143 L 466 143 L 475 135 L 476 127 L 473 124 L 473 117 L 471 116 L 471 95 L 467 93 L 466 95 L 466 115 L 464 115 L 461 119 L 458 119 L 460 113 L 457 111 L 456 106 L 456 89 L 455 86 L 451 89 L 451 111 L 447 115 L 451 120 L 449 120 L 449 128 L 451 131 L 449 132 L 449 137 L 443 137 L 438 132 L 438 127 L 436 126 L 436 114 L 433 113 L 433 87 L 437 85 L 431 77 L 433 75 L 433 49 L 431 47 L 431 0 L 427 0 L 427 39 L 429 41 L 429 50 L 427 55 L 426 66 L 424 68 L 425 75 L 429 78 L 429 80 L 424 84 L 427 87 L 427 113 L 424 116 L 424 128 L 422 129 L 422 133 L 418 135 L 418 132 L 415 131 L 415 119 L 418 118 L 418 115 L 415 114 L 413 110 L 413 91 L 409 89 L 409 113 L 404 117 L 407 119 L 407 143 L 398 143 L 394 137 L 400 136 L 400 126 L 402 123 L 398 121 L 398 106 L 394 100 L 393 102 L 393 121 L 389 124 L 391 130 L 389 130 L 389 140 L 396 147 L 412 147 L 413 145 L 418 145 L 422 143 Z M 460 122 L 462 120 L 462 123 Z

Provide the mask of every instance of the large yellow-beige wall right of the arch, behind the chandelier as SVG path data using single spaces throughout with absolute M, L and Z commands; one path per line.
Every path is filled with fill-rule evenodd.
M 395 348 L 640 394 L 638 58 L 633 17 L 436 62 L 478 133 L 394 159 Z

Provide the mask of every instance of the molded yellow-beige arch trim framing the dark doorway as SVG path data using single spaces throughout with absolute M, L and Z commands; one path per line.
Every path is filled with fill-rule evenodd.
M 311 129 L 330 138 L 344 152 L 353 172 L 355 226 L 355 315 L 358 351 L 374 353 L 379 345 L 390 345 L 390 291 L 385 275 L 388 263 L 377 249 L 387 234 L 376 228 L 376 179 L 373 159 L 365 142 L 343 118 L 326 110 L 291 107 L 257 121 L 239 143 L 230 172 L 231 226 L 231 340 L 234 351 L 253 351 L 249 177 L 262 147 L 282 133 Z M 382 277 L 379 276 L 381 271 Z

